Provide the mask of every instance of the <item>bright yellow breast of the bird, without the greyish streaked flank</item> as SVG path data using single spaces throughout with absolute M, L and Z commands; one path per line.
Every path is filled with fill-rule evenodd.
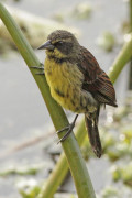
M 82 73 L 69 62 L 56 63 L 46 57 L 44 70 L 53 98 L 66 109 L 77 112 L 80 103 Z

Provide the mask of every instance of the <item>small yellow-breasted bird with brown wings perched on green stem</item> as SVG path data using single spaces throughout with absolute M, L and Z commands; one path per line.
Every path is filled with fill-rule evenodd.
M 101 157 L 100 106 L 118 107 L 112 82 L 94 55 L 68 31 L 54 31 L 38 50 L 46 50 L 44 74 L 52 97 L 65 109 L 77 113 L 68 127 L 58 131 L 67 129 L 61 141 L 72 132 L 78 114 L 84 113 L 90 144 L 95 154 Z

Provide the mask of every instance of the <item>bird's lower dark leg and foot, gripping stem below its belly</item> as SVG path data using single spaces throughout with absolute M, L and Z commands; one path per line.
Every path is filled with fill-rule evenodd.
M 61 132 L 63 132 L 63 131 L 65 131 L 65 130 L 68 130 L 68 131 L 66 132 L 66 134 L 58 141 L 58 143 L 65 141 L 65 140 L 67 139 L 67 136 L 72 133 L 72 131 L 73 131 L 73 129 L 74 129 L 74 127 L 75 127 L 75 122 L 76 122 L 76 120 L 77 120 L 77 117 L 78 117 L 78 114 L 76 114 L 74 121 L 73 121 L 69 125 L 67 125 L 67 127 L 65 127 L 65 128 L 63 128 L 62 130 L 59 130 L 59 131 L 56 132 L 56 133 L 61 133 Z M 58 143 L 57 143 L 57 144 L 58 144 Z

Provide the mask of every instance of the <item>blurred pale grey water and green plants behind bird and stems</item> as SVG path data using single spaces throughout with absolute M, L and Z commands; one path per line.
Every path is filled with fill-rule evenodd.
M 109 72 L 129 32 L 130 1 L 3 0 L 43 63 L 36 48 L 56 29 L 72 31 Z M 132 197 L 132 92 L 130 64 L 114 87 L 119 108 L 101 111 L 105 155 L 97 160 L 82 147 L 100 198 Z M 66 112 L 69 120 L 73 113 Z M 81 120 L 81 116 L 79 117 Z M 78 119 L 79 122 L 79 119 Z M 48 177 L 62 152 L 42 96 L 23 58 L 0 21 L 0 198 L 33 197 L 34 186 Z M 89 155 L 91 157 L 89 158 Z M 119 191 L 120 187 L 120 191 Z M 67 176 L 56 197 L 69 198 L 75 186 Z

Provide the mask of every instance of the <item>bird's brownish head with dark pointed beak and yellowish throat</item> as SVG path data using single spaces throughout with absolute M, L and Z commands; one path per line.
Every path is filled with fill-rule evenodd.
M 46 50 L 47 56 L 56 58 L 75 58 L 79 53 L 79 43 L 70 32 L 57 30 L 48 35 L 38 50 Z

